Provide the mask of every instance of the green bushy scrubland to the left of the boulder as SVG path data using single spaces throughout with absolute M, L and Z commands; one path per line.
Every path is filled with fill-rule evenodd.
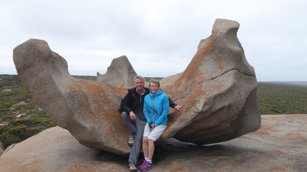
M 18 75 L 0 75 L 0 140 L 4 149 L 56 126 L 22 86 Z

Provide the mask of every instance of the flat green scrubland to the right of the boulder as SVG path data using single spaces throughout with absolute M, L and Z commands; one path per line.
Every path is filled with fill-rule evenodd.
M 258 83 L 261 114 L 307 114 L 307 88 Z

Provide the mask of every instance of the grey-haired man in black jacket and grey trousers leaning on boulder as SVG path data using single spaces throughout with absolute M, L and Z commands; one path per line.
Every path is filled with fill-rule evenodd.
M 149 89 L 145 88 L 145 79 L 142 76 L 134 77 L 136 87 L 128 90 L 126 96 L 120 102 L 122 121 L 129 132 L 128 144 L 132 146 L 129 156 L 130 172 L 136 172 L 137 158 L 142 148 L 142 137 L 146 118 L 143 113 L 144 97 L 149 94 Z M 175 111 L 180 111 L 182 106 L 177 106 L 170 98 L 170 107 Z

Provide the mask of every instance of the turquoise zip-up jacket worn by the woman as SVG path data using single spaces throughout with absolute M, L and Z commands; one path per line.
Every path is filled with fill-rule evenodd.
M 144 98 L 144 116 L 148 125 L 153 123 L 154 126 L 167 125 L 167 115 L 170 108 L 170 102 L 162 88 L 157 93 L 150 93 Z

